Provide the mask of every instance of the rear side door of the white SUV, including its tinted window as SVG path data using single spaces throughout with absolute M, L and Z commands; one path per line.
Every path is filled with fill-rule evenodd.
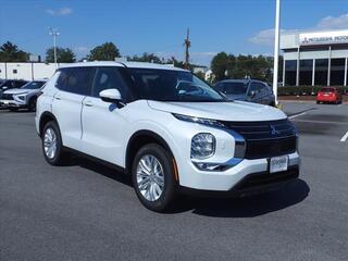
M 82 108 L 83 100 L 90 92 L 92 67 L 60 70 L 52 102 L 54 114 L 65 147 L 82 150 Z

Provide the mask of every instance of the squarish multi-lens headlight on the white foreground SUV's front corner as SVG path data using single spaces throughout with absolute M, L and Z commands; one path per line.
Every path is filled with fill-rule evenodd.
M 191 139 L 191 158 L 203 160 L 215 153 L 215 137 L 209 133 L 200 133 Z

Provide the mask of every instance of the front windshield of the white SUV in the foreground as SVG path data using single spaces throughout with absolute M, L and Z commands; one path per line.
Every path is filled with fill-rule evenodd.
M 158 101 L 225 101 L 219 92 L 189 72 L 129 69 L 139 99 Z

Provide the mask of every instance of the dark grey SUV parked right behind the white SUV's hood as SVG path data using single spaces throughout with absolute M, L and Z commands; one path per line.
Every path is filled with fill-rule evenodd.
M 229 100 L 250 101 L 266 105 L 275 105 L 275 97 L 271 87 L 256 79 L 224 79 L 214 85 Z

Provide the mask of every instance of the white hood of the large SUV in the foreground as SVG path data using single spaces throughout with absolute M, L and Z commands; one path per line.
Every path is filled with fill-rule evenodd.
M 177 113 L 187 116 L 232 121 L 232 122 L 260 122 L 286 119 L 286 114 L 273 107 L 258 103 L 231 102 L 163 102 L 148 101 L 154 110 Z

